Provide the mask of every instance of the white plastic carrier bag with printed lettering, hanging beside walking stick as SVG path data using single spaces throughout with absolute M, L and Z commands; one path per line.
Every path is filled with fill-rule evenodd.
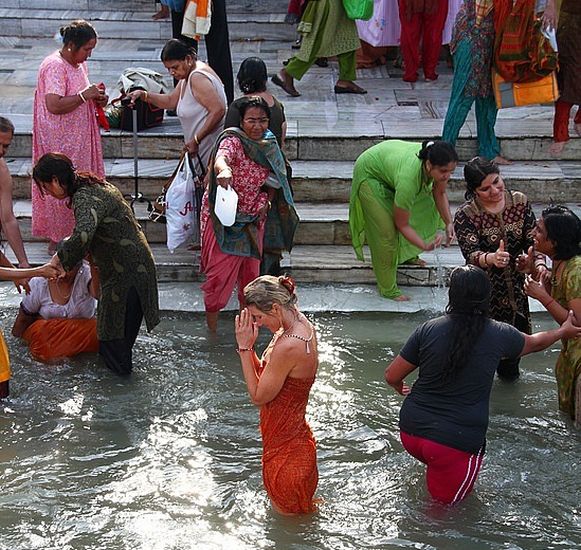
M 194 176 L 187 155 L 184 155 L 165 196 L 167 247 L 170 252 L 191 244 L 197 231 L 194 207 Z

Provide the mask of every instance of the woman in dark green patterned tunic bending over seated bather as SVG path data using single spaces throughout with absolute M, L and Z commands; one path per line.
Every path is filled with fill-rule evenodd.
M 76 172 L 65 155 L 43 155 L 33 178 L 41 194 L 69 199 L 75 228 L 59 245 L 53 263 L 70 271 L 87 253 L 91 255 L 101 280 L 99 353 L 108 368 L 129 374 L 143 317 L 148 330 L 159 322 L 155 263 L 143 231 L 115 186 Z

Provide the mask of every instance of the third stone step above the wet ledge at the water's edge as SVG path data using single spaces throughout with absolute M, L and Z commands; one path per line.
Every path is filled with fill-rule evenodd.
M 8 158 L 14 182 L 14 197 L 30 198 L 30 158 Z M 140 159 L 139 190 L 156 197 L 168 181 L 177 160 Z M 348 203 L 353 161 L 293 160 L 293 189 L 298 203 Z M 460 164 L 449 183 L 450 200 L 462 202 L 465 184 Z M 106 159 L 107 179 L 124 194 L 134 190 L 133 159 Z M 533 202 L 581 202 L 581 161 L 515 162 L 502 166 L 508 188 L 525 193 Z

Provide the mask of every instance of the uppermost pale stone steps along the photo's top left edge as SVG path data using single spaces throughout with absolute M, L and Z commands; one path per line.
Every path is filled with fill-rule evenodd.
M 30 9 L 0 8 L 3 36 L 46 38 L 73 19 L 85 19 L 95 27 L 99 38 L 125 40 L 162 40 L 171 37 L 170 19 L 154 21 L 154 4 L 149 11 L 107 10 L 106 6 L 91 9 Z M 67 7 L 70 7 L 67 6 Z M 296 28 L 284 22 L 286 10 L 283 3 L 276 13 L 249 13 L 233 11 L 228 7 L 228 33 L 230 40 L 288 40 L 296 38 Z

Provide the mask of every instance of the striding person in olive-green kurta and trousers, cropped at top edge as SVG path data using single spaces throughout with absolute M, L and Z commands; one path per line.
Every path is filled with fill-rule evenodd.
M 299 23 L 303 35 L 301 49 L 291 57 L 287 66 L 272 77 L 272 82 L 287 94 L 301 95 L 294 79 L 300 80 L 318 57 L 337 56 L 339 80 L 336 94 L 366 94 L 367 91 L 353 81 L 355 52 L 360 46 L 355 21 L 347 17 L 342 0 L 310 0 Z

